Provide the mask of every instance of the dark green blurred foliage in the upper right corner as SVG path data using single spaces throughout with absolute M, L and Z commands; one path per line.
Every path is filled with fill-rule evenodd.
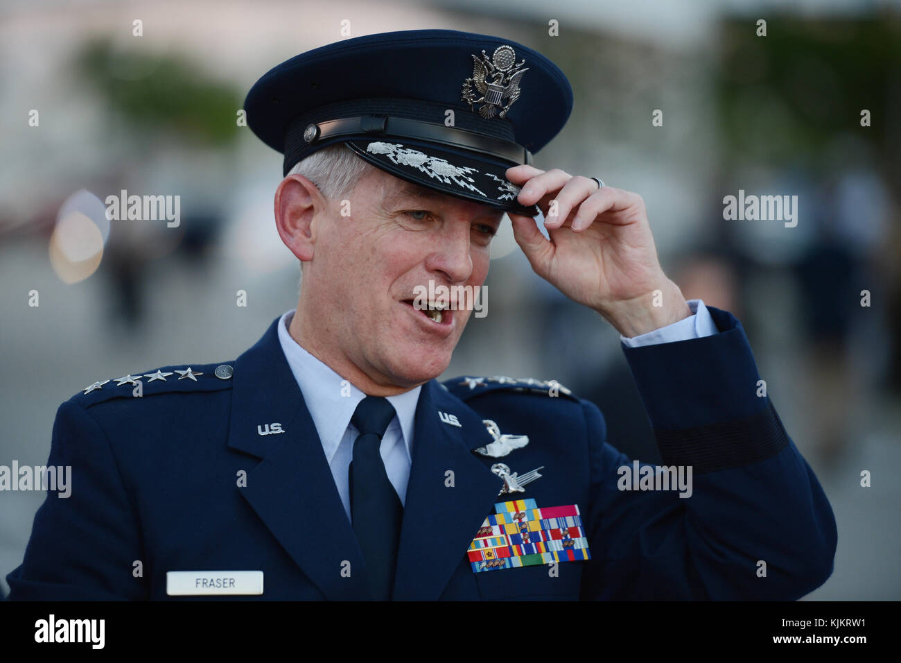
M 825 153 L 842 134 L 869 143 L 897 174 L 901 133 L 901 21 L 772 17 L 723 26 L 716 90 L 724 156 L 768 165 L 803 161 L 828 168 Z M 860 111 L 871 113 L 869 127 Z

